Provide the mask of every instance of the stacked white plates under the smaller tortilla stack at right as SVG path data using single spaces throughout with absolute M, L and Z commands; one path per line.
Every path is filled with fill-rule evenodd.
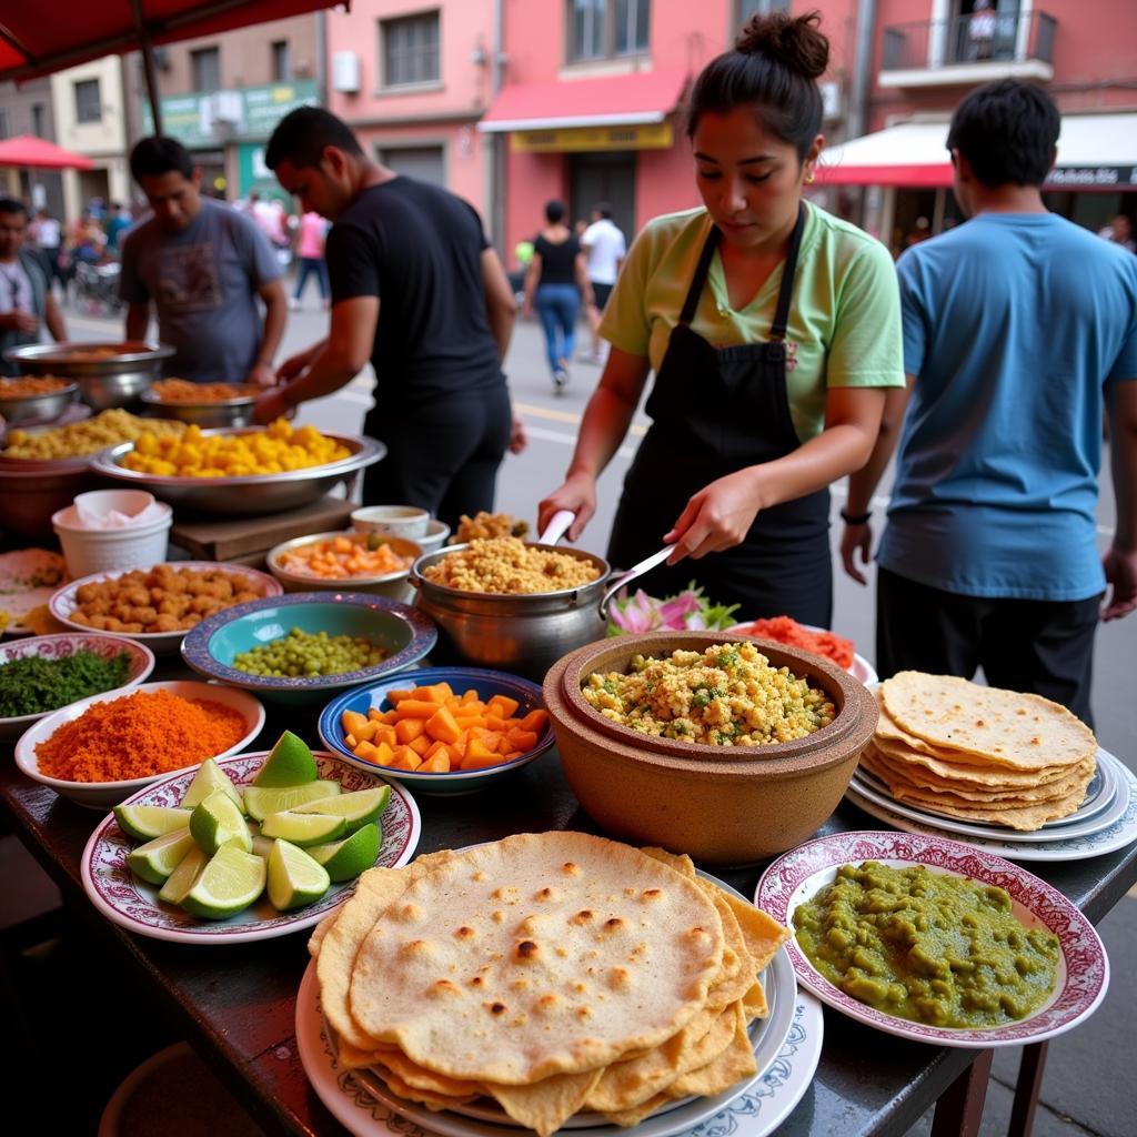
M 865 770 L 857 770 L 849 786 L 858 797 L 868 798 L 877 805 L 908 818 L 912 821 L 927 822 L 945 833 L 960 833 L 964 837 L 985 837 L 991 840 L 1007 840 L 1015 844 L 1026 841 L 1069 840 L 1073 837 L 1086 837 L 1109 828 L 1126 812 L 1124 778 L 1118 769 L 1121 765 L 1112 754 L 1097 752 L 1097 773 L 1086 791 L 1086 802 L 1077 813 L 1057 821 L 1049 821 L 1041 829 L 1022 832 L 1007 825 L 980 824 L 964 821 L 961 818 L 949 818 L 932 808 L 923 808 L 911 802 L 898 802 L 889 792 L 888 787 Z

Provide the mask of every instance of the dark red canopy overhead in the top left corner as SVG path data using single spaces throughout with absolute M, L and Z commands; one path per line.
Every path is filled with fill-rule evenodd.
M 327 8 L 331 0 L 24 0 L 0 14 L 0 80 L 32 78 L 142 45 L 215 35 Z M 139 19 L 135 19 L 135 8 Z

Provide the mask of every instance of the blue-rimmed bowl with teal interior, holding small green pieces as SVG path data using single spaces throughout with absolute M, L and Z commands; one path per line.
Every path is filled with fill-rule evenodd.
M 293 628 L 329 636 L 365 636 L 387 648 L 387 658 L 373 667 L 339 675 L 280 679 L 238 671 L 241 652 L 287 636 Z M 190 629 L 182 640 L 182 658 L 200 675 L 277 703 L 322 703 L 330 691 L 374 682 L 417 663 L 438 639 L 433 621 L 416 608 L 385 596 L 363 592 L 292 592 L 268 596 L 218 612 Z

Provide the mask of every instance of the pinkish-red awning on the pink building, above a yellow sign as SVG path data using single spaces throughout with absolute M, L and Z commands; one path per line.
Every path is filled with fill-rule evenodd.
M 662 123 L 679 106 L 686 85 L 683 72 L 513 83 L 493 100 L 478 128 L 504 132 Z

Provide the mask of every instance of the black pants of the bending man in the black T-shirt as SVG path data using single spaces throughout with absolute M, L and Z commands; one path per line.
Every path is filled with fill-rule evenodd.
M 492 509 L 509 426 L 505 387 L 430 405 L 379 402 L 364 431 L 388 454 L 364 474 L 364 504 L 415 505 L 451 529 L 464 513 Z

